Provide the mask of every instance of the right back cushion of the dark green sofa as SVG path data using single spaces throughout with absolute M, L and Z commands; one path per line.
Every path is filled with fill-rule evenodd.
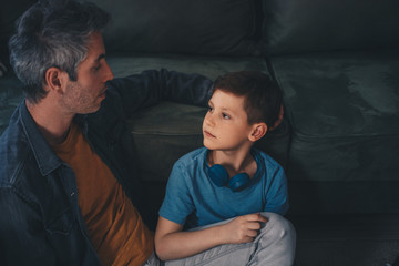
M 264 0 L 265 50 L 397 48 L 398 10 L 397 0 Z

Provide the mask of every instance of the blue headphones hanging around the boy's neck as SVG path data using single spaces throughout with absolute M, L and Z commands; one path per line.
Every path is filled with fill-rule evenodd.
M 219 187 L 227 186 L 233 192 L 243 191 L 249 185 L 250 182 L 249 175 L 247 173 L 239 173 L 229 178 L 226 168 L 223 167 L 221 164 L 212 165 L 208 170 L 208 175 L 215 185 Z

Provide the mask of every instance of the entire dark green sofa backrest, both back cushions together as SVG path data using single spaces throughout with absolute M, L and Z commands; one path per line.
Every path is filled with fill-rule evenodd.
M 286 54 L 399 47 L 397 0 L 93 0 L 111 51 Z

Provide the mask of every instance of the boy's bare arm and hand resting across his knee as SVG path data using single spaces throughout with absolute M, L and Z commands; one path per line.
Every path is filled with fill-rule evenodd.
M 155 250 L 162 260 L 193 256 L 223 244 L 249 243 L 267 218 L 260 214 L 239 216 L 226 224 L 182 232 L 183 226 L 160 217 L 155 232 Z

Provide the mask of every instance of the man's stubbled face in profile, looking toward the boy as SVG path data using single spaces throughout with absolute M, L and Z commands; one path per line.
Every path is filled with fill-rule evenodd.
M 105 61 L 102 35 L 92 33 L 89 38 L 88 55 L 78 66 L 78 81 L 69 81 L 61 108 L 72 114 L 93 113 L 105 99 L 105 82 L 113 79 L 110 65 Z

